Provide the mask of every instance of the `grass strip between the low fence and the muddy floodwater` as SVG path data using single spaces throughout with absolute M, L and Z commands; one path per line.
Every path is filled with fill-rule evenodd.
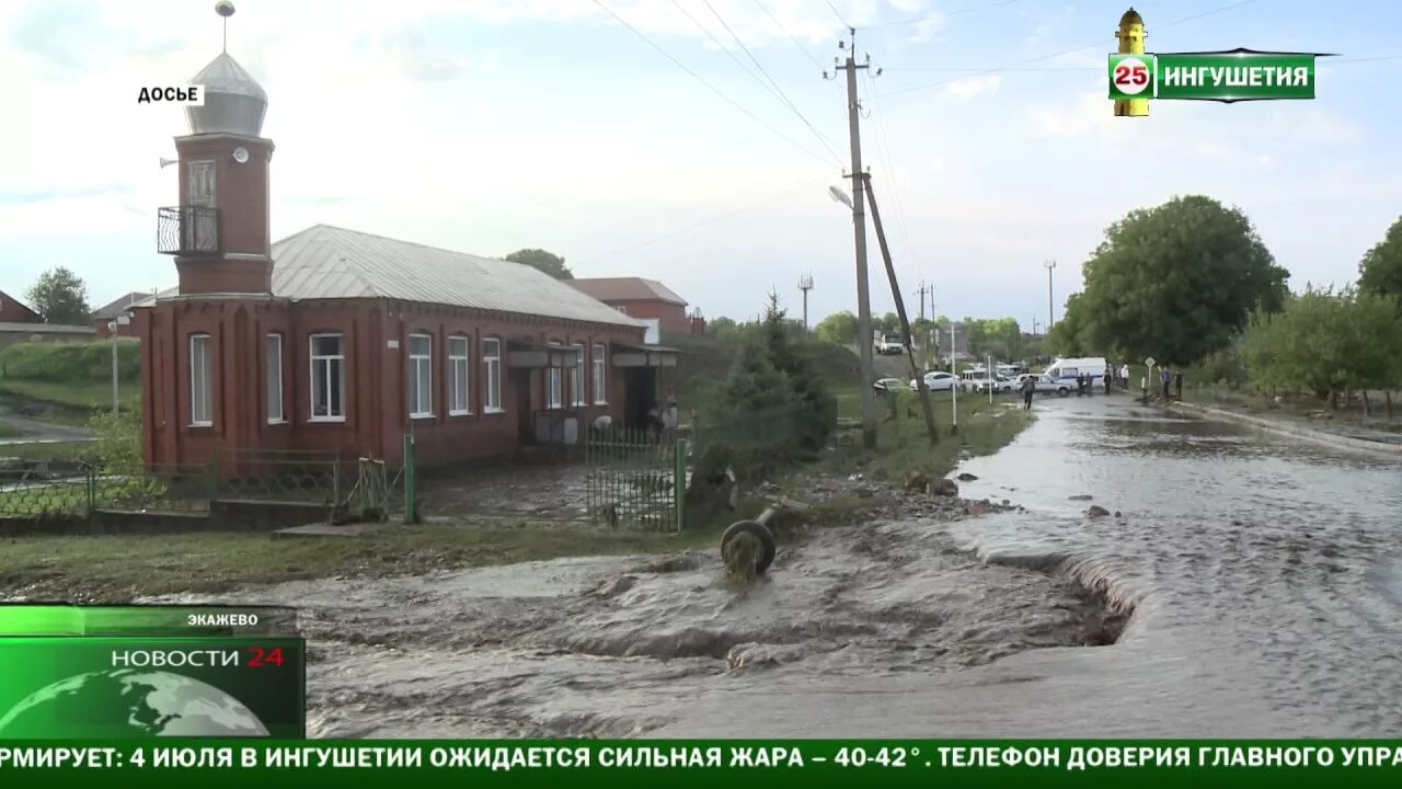
M 388 577 L 564 556 L 658 553 L 715 545 L 683 535 L 575 528 L 387 526 L 360 538 L 266 533 L 22 536 L 3 543 L 0 590 L 28 598 L 118 602 L 179 591 L 324 577 Z

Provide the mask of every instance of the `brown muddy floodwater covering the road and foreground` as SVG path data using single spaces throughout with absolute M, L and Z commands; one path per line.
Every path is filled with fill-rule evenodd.
M 746 594 L 711 550 L 219 599 L 301 606 L 320 737 L 1402 736 L 1402 465 L 1036 409 L 959 469 L 1025 511 L 897 501 Z

